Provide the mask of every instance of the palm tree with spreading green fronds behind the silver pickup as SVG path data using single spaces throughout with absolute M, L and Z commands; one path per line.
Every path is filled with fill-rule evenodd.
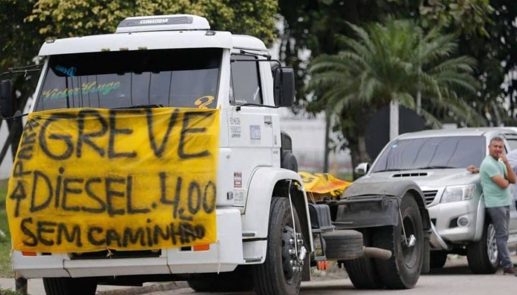
M 484 125 L 461 98 L 476 95 L 479 83 L 472 76 L 473 58 L 451 57 L 458 47 L 454 36 L 440 34 L 439 28 L 424 33 L 415 21 L 393 18 L 364 28 L 349 26 L 357 39 L 340 36 L 345 50 L 311 61 L 308 89 L 316 97 L 310 106 L 313 111 L 339 116 L 354 166 L 368 159 L 360 151 L 364 146 L 361 120 L 390 102 L 418 109 L 433 128 L 440 126 L 437 114 L 463 125 Z

